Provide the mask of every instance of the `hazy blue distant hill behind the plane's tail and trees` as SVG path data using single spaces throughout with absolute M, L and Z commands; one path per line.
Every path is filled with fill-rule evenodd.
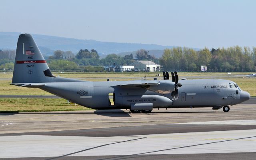
M 0 32 L 0 49 L 16 49 L 19 32 Z M 63 38 L 57 36 L 45 36 L 32 34 L 42 54 L 50 56 L 54 50 L 70 50 L 74 54 L 80 49 L 95 49 L 104 57 L 107 54 L 124 54 L 126 52 L 136 52 L 139 49 L 149 50 L 150 54 L 159 57 L 162 50 L 173 46 L 161 46 L 156 44 L 137 44 L 137 43 L 116 43 L 100 42 L 96 40 L 80 40 L 74 38 Z M 135 54 L 134 54 L 135 55 Z

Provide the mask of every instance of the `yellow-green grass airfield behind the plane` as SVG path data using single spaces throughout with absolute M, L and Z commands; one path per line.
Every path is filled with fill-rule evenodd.
M 54 73 L 54 75 L 60 75 L 66 78 L 82 78 L 82 80 L 90 81 L 106 81 L 107 78 L 110 80 L 133 80 L 132 77 L 154 77 L 156 74 L 162 73 Z M 202 76 L 213 76 L 218 78 L 222 76 L 222 79 L 232 80 L 236 82 L 242 90 L 250 93 L 251 96 L 256 96 L 256 78 L 244 78 L 243 76 L 230 78 L 226 73 L 188 73 L 180 72 L 179 76 L 184 76 L 190 79 L 191 76 L 200 79 Z M 249 73 L 234 73 L 239 75 L 247 75 Z M 223 78 L 227 76 L 227 78 Z M 124 77 L 124 78 L 122 78 Z M 128 78 L 131 77 L 131 78 Z M 11 80 L 4 78 L 12 78 L 11 73 L 3 74 L 0 73 L 0 95 L 51 95 L 48 92 L 40 90 L 38 88 L 26 88 L 17 87 L 10 85 Z M 103 78 L 103 79 L 99 79 Z M 106 78 L 106 79 L 104 79 Z M 120 78 L 120 79 L 115 79 Z M 152 78 L 150 78 L 151 80 Z M 113 102 L 112 102 L 113 103 Z M 57 111 L 57 110 L 86 110 L 88 108 L 82 106 L 70 106 L 64 99 L 45 99 L 42 98 L 0 98 L 0 112 L 36 112 L 36 111 Z

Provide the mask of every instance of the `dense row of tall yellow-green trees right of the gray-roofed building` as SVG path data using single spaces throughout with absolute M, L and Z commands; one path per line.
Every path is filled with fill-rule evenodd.
M 160 64 L 165 70 L 200 71 L 200 66 L 205 65 L 211 72 L 250 72 L 255 71 L 256 47 L 233 46 L 210 50 L 174 47 L 164 50 Z

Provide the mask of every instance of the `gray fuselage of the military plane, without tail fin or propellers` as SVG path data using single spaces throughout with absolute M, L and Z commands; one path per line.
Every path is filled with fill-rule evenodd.
M 166 80 L 158 82 L 162 84 L 162 81 Z M 250 98 L 248 92 L 234 87 L 235 83 L 230 80 L 180 80 L 182 87 L 177 100 L 172 100 L 171 93 L 156 93 L 150 88 L 115 87 L 124 82 L 128 81 L 51 82 L 40 88 L 94 109 L 130 109 L 133 104 L 152 104 L 153 108 L 218 107 L 239 104 Z M 109 104 L 110 93 L 114 94 L 114 105 Z

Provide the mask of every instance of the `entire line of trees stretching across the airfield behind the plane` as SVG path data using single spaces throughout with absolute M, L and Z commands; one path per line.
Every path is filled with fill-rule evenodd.
M 135 57 L 134 57 L 135 56 Z M 15 50 L 0 50 L 0 70 L 13 70 Z M 71 51 L 54 51 L 49 56 L 47 63 L 51 70 L 76 70 L 84 71 L 102 69 L 94 66 L 129 65 L 135 60 L 152 60 L 161 65 L 166 71 L 200 71 L 200 66 L 207 66 L 211 72 L 250 72 L 256 66 L 256 47 L 233 46 L 228 48 L 203 48 L 194 50 L 186 47 L 166 48 L 161 58 L 151 56 L 144 49 L 136 51 L 136 54 L 119 56 L 108 54 L 100 59 L 100 55 L 94 49 L 80 49 L 77 54 Z

